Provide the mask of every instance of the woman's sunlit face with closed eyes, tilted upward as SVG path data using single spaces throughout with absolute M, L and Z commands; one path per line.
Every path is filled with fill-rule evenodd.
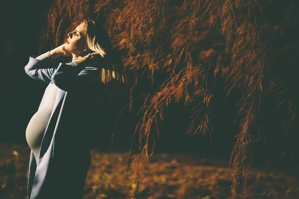
M 82 56 L 84 54 L 84 49 L 86 44 L 84 42 L 86 34 L 86 24 L 81 23 L 78 25 L 74 31 L 68 33 L 67 43 L 65 44 L 65 50 L 77 56 Z

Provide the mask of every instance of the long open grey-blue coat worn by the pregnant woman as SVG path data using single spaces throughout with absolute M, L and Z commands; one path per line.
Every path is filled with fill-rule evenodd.
M 73 63 L 48 63 L 30 56 L 25 72 L 57 91 L 36 165 L 31 151 L 28 199 L 81 199 L 91 156 L 89 139 L 96 129 L 101 70 Z M 44 101 L 44 96 L 39 108 Z M 38 109 L 39 109 L 38 108 Z

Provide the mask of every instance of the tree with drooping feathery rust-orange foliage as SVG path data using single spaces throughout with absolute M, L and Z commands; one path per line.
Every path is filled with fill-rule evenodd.
M 242 184 L 246 193 L 256 146 L 285 135 L 289 145 L 283 153 L 290 153 L 287 138 L 298 131 L 298 11 L 288 0 L 55 0 L 41 31 L 41 48 L 57 46 L 74 25 L 91 17 L 103 22 L 122 54 L 132 81 L 131 102 L 144 74 L 152 84 L 164 75 L 139 112 L 135 133 L 141 152 L 129 154 L 128 168 L 135 163 L 135 197 L 154 151 L 153 139 L 148 154 L 151 127 L 159 135 L 164 108 L 184 100 L 193 111 L 185 134 L 210 133 L 215 82 L 223 81 L 226 110 L 236 113 L 240 126 L 231 155 L 236 199 Z M 271 128 L 273 118 L 267 116 L 273 113 L 283 115 L 277 117 L 280 128 Z

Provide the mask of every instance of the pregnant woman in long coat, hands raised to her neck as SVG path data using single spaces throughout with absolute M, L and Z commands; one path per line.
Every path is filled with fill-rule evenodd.
M 28 199 L 82 198 L 91 162 L 89 141 L 100 131 L 100 96 L 110 81 L 126 82 L 102 25 L 84 19 L 67 35 L 66 43 L 30 56 L 25 66 L 31 78 L 48 84 L 26 128 Z M 57 63 L 61 56 L 72 61 Z

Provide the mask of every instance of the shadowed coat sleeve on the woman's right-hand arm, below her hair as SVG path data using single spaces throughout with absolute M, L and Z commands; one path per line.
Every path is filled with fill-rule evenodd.
M 66 92 L 96 88 L 102 84 L 101 80 L 100 69 L 91 65 L 84 67 L 79 64 L 76 66 L 73 62 L 60 63 L 51 78 L 53 84 Z

